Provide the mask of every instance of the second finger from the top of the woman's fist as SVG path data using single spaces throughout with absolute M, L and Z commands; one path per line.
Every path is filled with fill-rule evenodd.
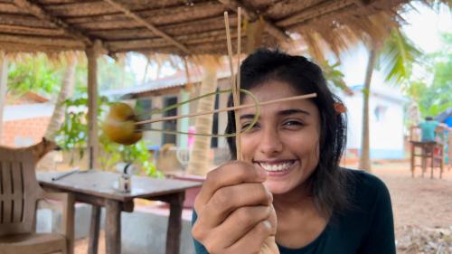
M 271 193 L 262 183 L 241 183 L 213 193 L 209 202 L 199 209 L 199 220 L 206 228 L 220 225 L 231 212 L 241 207 L 269 205 Z

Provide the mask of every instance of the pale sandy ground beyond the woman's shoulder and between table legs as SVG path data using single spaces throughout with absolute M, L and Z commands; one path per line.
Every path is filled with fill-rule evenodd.
M 392 199 L 396 240 L 406 237 L 407 228 L 450 229 L 452 227 L 452 170 L 445 171 L 443 179 L 424 178 L 419 170 L 411 178 L 410 164 L 404 162 L 380 162 L 372 165 L 372 173 L 387 184 Z M 77 240 L 75 253 L 87 253 L 88 240 Z M 105 253 L 103 234 L 99 240 L 99 253 Z M 420 252 L 418 250 L 398 253 L 451 253 Z

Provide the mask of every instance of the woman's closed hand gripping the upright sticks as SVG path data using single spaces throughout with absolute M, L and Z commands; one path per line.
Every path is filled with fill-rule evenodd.
M 198 219 L 193 238 L 211 254 L 275 254 L 277 226 L 273 197 L 262 184 L 263 169 L 244 162 L 222 165 L 207 174 L 194 202 Z

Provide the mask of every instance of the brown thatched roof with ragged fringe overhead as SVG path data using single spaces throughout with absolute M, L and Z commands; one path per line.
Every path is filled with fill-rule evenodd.
M 237 38 L 244 10 L 243 44 L 305 43 L 340 52 L 349 42 L 380 41 L 396 23 L 403 0 L 0 0 L 0 51 L 84 50 L 96 40 L 110 54 L 162 52 L 225 54 L 223 12 Z M 253 22 L 258 21 L 259 25 Z M 256 28 L 258 27 L 258 28 Z M 259 33 L 263 27 L 264 33 Z M 257 31 L 253 33 L 253 31 Z M 299 34 L 297 36 L 294 34 Z M 369 37 L 370 36 L 370 37 Z M 247 38 L 249 37 L 249 38 Z

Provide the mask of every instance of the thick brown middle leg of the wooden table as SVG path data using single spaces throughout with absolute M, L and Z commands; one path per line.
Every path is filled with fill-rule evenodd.
M 114 200 L 106 201 L 105 245 L 107 254 L 121 253 L 121 205 Z

